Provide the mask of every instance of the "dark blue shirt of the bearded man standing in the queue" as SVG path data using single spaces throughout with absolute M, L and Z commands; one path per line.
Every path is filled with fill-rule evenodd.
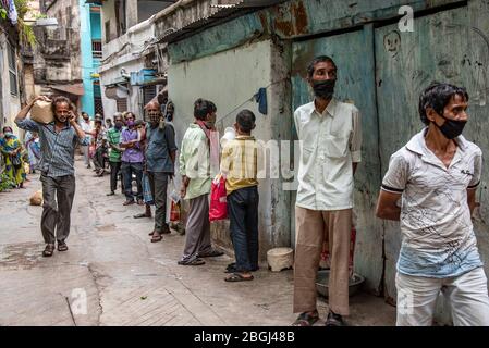
M 174 164 L 170 153 L 176 151 L 175 130 L 170 124 L 164 129 L 146 125 L 146 169 L 155 173 L 173 173 Z

